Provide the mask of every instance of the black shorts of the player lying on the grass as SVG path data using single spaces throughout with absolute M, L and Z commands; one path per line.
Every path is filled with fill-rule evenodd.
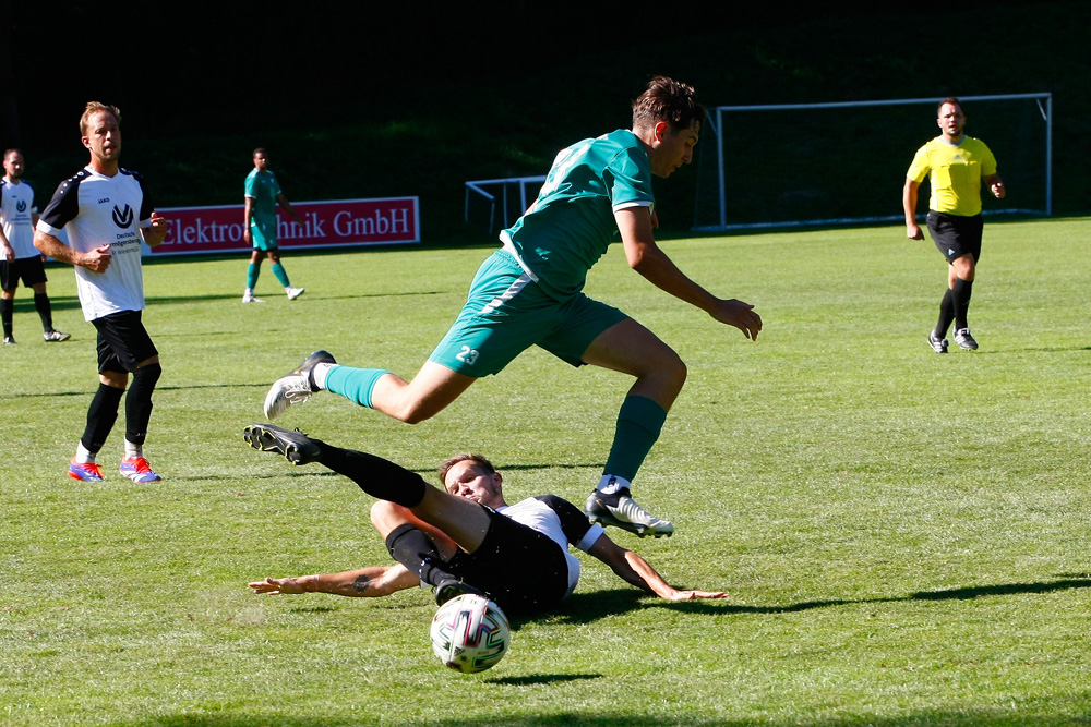
M 459 550 L 452 573 L 489 594 L 508 614 L 556 605 L 568 593 L 568 561 L 548 535 L 485 508 L 491 524 L 473 553 Z

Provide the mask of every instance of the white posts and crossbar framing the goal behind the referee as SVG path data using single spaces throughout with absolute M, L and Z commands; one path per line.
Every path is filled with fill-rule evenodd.
M 1051 217 L 1053 215 L 1053 94 L 1051 93 L 1035 93 L 1035 94 L 993 94 L 986 96 L 960 96 L 959 100 L 972 102 L 972 101 L 1010 101 L 1010 100 L 1035 100 L 1038 102 L 1039 111 L 1045 121 L 1045 209 L 1006 209 L 1003 214 L 1026 214 L 1026 215 L 1044 215 Z M 802 227 L 802 226 L 828 226 L 828 225 L 848 225 L 848 223 L 861 223 L 861 222 L 887 222 L 894 220 L 901 220 L 902 215 L 887 215 L 877 217 L 851 217 L 851 218 L 832 218 L 832 219 L 810 219 L 810 220 L 794 220 L 794 221 L 777 221 L 777 222 L 747 222 L 747 223 L 729 223 L 727 219 L 727 179 L 726 179 L 726 149 L 724 149 L 724 135 L 719 133 L 719 130 L 724 128 L 726 116 L 728 113 L 739 113 L 748 111 L 796 111 L 796 110 L 807 110 L 807 109 L 838 109 L 838 108 L 863 108 L 863 107 L 875 107 L 875 106 L 910 106 L 910 105 L 923 105 L 931 104 L 937 105 L 944 97 L 930 97 L 930 98 L 891 98 L 883 100 L 867 100 L 867 101 L 831 101 L 825 104 L 763 104 L 754 106 L 716 106 L 707 110 L 707 123 L 712 126 L 712 131 L 716 134 L 716 172 L 717 172 L 717 199 L 719 203 L 719 225 L 711 226 L 695 226 L 693 229 L 695 231 L 708 231 L 708 232 L 719 232 L 728 230 L 744 230 L 744 229 L 759 229 L 759 228 L 790 228 L 790 227 Z M 999 213 L 988 213 L 988 214 L 999 214 Z

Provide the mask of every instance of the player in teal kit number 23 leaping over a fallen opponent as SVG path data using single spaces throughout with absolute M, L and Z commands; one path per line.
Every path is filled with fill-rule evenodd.
M 538 199 L 501 232 L 503 247 L 478 270 L 465 307 L 412 381 L 382 368 L 339 366 L 319 351 L 273 385 L 266 416 L 326 389 L 413 424 L 537 344 L 573 366 L 591 364 L 636 378 L 585 511 L 592 522 L 642 536 L 673 533 L 670 522 L 633 500 L 630 486 L 685 383 L 685 364 L 650 330 L 582 290 L 588 269 L 620 232 L 630 267 L 746 338 L 757 338 L 762 318 L 754 306 L 712 295 L 655 240 L 651 178 L 669 177 L 692 160 L 704 118 L 691 86 L 654 78 L 633 102 L 632 131 L 584 140 L 558 155 Z

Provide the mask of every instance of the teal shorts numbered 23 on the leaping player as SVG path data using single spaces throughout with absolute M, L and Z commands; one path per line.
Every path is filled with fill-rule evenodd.
M 563 301 L 547 295 L 511 253 L 499 250 L 481 264 L 466 305 L 429 360 L 481 378 L 539 346 L 580 366 L 591 341 L 627 317 L 583 293 Z

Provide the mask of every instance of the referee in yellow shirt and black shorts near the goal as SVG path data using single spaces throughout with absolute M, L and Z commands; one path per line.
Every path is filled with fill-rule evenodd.
M 939 303 L 939 320 L 928 331 L 928 346 L 936 353 L 947 353 L 947 329 L 955 322 L 955 342 L 967 351 L 978 348 L 970 335 L 967 313 L 978 260 L 981 259 L 981 182 L 996 198 L 1007 195 L 1004 181 L 996 173 L 996 159 L 984 142 L 967 136 L 966 113 L 957 98 L 945 98 L 937 108 L 939 136 L 918 149 L 906 174 L 902 206 L 906 210 L 906 237 L 924 240 L 916 223 L 916 193 L 921 182 L 932 175 L 928 203 L 928 232 L 947 259 L 947 290 Z

